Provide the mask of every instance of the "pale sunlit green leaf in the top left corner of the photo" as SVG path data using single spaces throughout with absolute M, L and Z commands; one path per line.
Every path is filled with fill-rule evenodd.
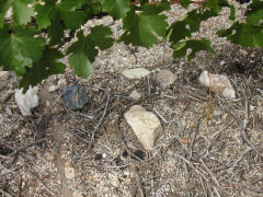
M 31 21 L 31 16 L 35 15 L 30 3 L 34 3 L 35 0 L 1 0 L 0 1 L 0 27 L 3 26 L 4 15 L 9 8 L 13 9 L 13 20 L 16 24 L 27 24 Z

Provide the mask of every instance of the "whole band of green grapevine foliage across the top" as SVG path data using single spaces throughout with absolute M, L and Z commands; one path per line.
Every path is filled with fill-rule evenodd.
M 184 9 L 194 2 L 196 7 L 169 25 L 165 13 L 171 12 L 170 4 L 174 2 L 0 0 L 0 67 L 3 70 L 13 70 L 20 78 L 20 88 L 24 88 L 25 92 L 30 85 L 36 85 L 48 76 L 62 73 L 66 66 L 61 59 L 65 56 L 69 56 L 69 66 L 76 73 L 87 78 L 99 49 L 105 50 L 114 42 L 149 48 L 160 39 L 167 39 L 171 43 L 174 58 L 187 56 L 192 60 L 201 50 L 215 54 L 210 42 L 199 35 L 198 30 L 202 22 L 220 15 L 224 7 L 229 9 L 232 25 L 218 31 L 218 36 L 244 47 L 263 48 L 262 0 L 253 0 L 243 7 L 242 21 L 235 19 L 235 15 L 242 12 L 240 9 L 236 10 L 237 7 L 230 0 L 180 0 Z M 103 25 L 90 28 L 88 34 L 82 31 L 81 25 L 87 21 L 104 15 L 123 20 L 122 36 L 114 39 L 111 28 Z M 59 48 L 75 35 L 77 39 L 61 54 Z

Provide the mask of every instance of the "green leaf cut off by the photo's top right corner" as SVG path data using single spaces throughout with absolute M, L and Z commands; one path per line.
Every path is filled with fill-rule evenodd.
M 252 3 L 248 5 L 248 11 L 245 12 L 245 21 L 251 25 L 260 26 L 262 24 L 262 20 L 263 1 L 253 0 Z

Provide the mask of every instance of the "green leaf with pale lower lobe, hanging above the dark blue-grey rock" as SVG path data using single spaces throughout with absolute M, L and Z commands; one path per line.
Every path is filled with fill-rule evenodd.
M 113 45 L 111 35 L 111 28 L 103 25 L 94 26 L 87 36 L 83 35 L 83 31 L 77 34 L 78 40 L 68 48 L 67 54 L 71 54 L 69 65 L 78 76 L 88 78 L 92 70 L 91 63 L 99 53 L 96 47 L 102 50 L 110 48 Z

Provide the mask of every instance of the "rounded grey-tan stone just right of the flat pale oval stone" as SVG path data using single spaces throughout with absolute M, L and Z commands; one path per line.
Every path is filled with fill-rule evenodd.
M 176 80 L 176 76 L 170 70 L 160 70 L 157 72 L 157 82 L 159 82 L 162 86 L 167 88 L 174 83 Z

